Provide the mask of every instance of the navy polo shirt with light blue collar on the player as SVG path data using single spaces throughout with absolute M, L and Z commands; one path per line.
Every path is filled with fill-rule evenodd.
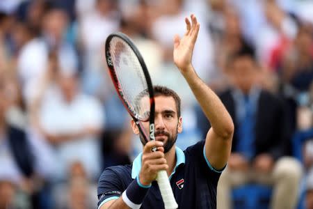
M 220 173 L 207 160 L 204 142 L 189 146 L 184 152 L 176 147 L 176 166 L 170 175 L 170 185 L 179 208 L 216 208 L 216 188 Z M 141 170 L 141 156 L 132 165 L 105 169 L 98 183 L 98 208 L 118 199 Z M 157 182 L 152 183 L 141 208 L 164 208 Z

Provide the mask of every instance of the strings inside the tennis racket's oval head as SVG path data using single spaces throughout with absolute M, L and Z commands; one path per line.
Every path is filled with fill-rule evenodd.
M 141 102 L 142 98 L 149 98 L 147 82 L 141 68 L 141 63 L 134 51 L 124 40 L 114 37 L 110 42 L 110 52 L 115 74 L 120 83 L 119 91 L 127 102 L 129 109 L 141 121 L 149 118 L 149 101 Z M 145 97 L 145 95 L 147 95 Z

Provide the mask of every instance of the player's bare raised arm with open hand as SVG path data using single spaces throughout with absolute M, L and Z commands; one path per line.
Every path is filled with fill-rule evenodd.
M 179 38 L 176 35 L 174 38 L 174 62 L 211 123 L 204 146 L 207 160 L 214 169 L 222 169 L 230 156 L 234 123 L 218 96 L 198 77 L 191 64 L 200 24 L 195 15 L 191 15 L 191 22 L 188 18 L 185 22 L 187 29 L 184 36 Z

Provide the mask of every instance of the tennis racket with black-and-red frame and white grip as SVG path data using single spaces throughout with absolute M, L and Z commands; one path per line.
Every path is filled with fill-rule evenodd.
M 106 64 L 125 108 L 146 141 L 154 140 L 154 93 L 149 72 L 134 43 L 124 33 L 106 38 Z M 141 102 L 145 98 L 145 102 Z M 142 122 L 150 122 L 149 134 Z M 157 183 L 166 209 L 177 208 L 166 171 L 159 171 Z

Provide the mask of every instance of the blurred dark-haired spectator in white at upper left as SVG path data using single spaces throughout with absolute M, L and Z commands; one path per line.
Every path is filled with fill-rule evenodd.
M 38 89 L 38 80 L 47 70 L 50 52 L 56 52 L 61 65 L 77 67 L 77 54 L 70 43 L 65 40 L 68 17 L 61 8 L 51 6 L 42 17 L 42 36 L 33 36 L 17 58 L 17 70 L 22 80 L 22 88 L 26 104 L 30 104 Z M 66 66 L 69 68 L 69 66 Z

